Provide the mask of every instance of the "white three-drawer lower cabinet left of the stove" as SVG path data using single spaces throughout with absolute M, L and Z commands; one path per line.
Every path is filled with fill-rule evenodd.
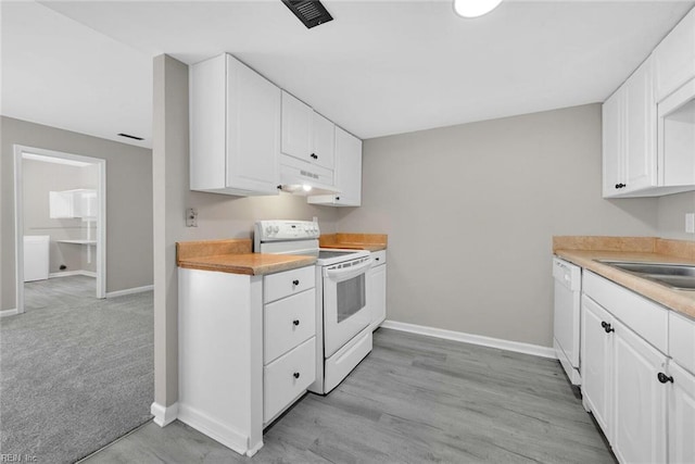
M 178 419 L 240 454 L 263 447 L 316 377 L 314 269 L 178 269 Z

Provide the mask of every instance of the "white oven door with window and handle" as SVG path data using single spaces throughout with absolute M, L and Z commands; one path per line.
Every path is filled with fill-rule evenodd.
M 323 268 L 326 358 L 369 325 L 366 298 L 366 272 L 369 267 L 370 256 Z

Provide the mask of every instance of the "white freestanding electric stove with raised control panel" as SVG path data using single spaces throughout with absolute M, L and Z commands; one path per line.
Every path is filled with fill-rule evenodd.
M 258 221 L 254 251 L 317 256 L 316 381 L 308 389 L 327 394 L 371 351 L 366 298 L 371 255 L 364 250 L 319 249 L 319 236 L 314 222 Z

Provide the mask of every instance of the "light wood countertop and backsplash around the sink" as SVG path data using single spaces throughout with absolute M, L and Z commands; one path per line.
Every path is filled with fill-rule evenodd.
M 639 247 L 630 247 L 630 244 L 626 246 L 626 243 L 630 243 L 630 240 L 626 240 L 626 238 L 616 238 L 616 240 L 621 241 L 614 242 L 614 246 L 598 246 L 598 248 L 607 248 L 606 250 L 564 249 L 561 247 L 568 246 L 567 242 L 554 240 L 553 252 L 558 258 L 612 280 L 666 308 L 695 318 L 695 291 L 672 289 L 597 261 L 614 260 L 695 265 L 695 254 L 693 253 L 695 242 L 654 238 L 654 247 L 648 247 L 640 238 L 637 240 L 640 242 Z M 592 242 L 594 241 L 592 240 Z M 577 242 L 572 243 L 572 246 L 576 244 Z M 634 244 L 634 242 L 631 244 Z M 632 250 L 636 248 L 636 250 L 631 251 L 631 248 Z

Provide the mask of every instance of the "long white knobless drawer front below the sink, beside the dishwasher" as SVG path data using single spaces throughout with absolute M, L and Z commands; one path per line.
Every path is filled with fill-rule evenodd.
M 584 273 L 583 291 L 662 353 L 668 352 L 669 310 L 618 284 Z

